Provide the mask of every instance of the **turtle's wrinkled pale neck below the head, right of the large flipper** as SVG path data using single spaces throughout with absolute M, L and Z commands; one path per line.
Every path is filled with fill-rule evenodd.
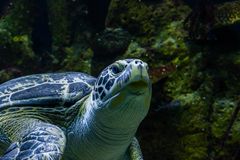
M 110 119 L 103 118 L 94 107 L 84 116 L 78 116 L 68 134 L 66 159 L 71 160 L 128 160 L 128 147 L 137 126 L 132 128 L 113 127 Z M 109 123 L 106 123 L 108 121 Z

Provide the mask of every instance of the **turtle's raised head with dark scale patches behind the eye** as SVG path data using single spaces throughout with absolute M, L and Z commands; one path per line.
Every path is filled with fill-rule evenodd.
M 99 75 L 92 101 L 110 127 L 137 128 L 146 116 L 151 99 L 147 70 L 145 62 L 125 59 L 109 65 Z

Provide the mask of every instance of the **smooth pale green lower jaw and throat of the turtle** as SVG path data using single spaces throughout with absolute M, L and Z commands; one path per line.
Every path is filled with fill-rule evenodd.
M 149 81 L 131 81 L 102 103 L 101 122 L 115 130 L 136 130 L 147 115 L 151 99 Z

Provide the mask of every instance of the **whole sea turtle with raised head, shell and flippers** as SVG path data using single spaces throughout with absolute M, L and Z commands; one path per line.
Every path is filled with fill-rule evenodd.
M 96 79 L 36 74 L 0 85 L 0 160 L 141 160 L 136 130 L 151 99 L 147 64 L 118 60 Z

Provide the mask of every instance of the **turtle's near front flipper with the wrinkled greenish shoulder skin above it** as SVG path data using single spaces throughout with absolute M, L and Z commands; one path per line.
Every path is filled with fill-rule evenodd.
M 60 160 L 62 157 L 66 138 L 59 127 L 24 116 L 2 124 L 13 143 L 1 160 Z

